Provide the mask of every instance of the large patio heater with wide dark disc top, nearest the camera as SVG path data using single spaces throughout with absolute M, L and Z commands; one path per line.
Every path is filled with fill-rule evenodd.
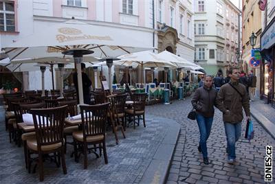
M 82 84 L 82 72 L 81 72 L 81 62 L 83 62 L 83 55 L 93 54 L 94 51 L 88 49 L 69 49 L 67 51 L 63 51 L 62 54 L 64 55 L 71 55 L 74 56 L 74 65 L 76 65 L 76 72 L 78 75 L 78 97 L 79 97 L 79 104 L 83 104 L 83 84 Z

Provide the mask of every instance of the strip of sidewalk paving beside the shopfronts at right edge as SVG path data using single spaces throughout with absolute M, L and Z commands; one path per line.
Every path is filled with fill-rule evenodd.
M 275 124 L 275 108 L 271 104 L 267 104 L 266 100 L 256 99 L 254 102 L 250 102 L 250 105 Z

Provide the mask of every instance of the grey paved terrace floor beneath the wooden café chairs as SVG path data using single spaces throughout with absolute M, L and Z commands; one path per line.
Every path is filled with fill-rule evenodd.
M 38 183 L 38 172 L 28 174 L 25 169 L 23 148 L 8 142 L 1 106 L 0 114 L 0 183 Z M 132 126 L 127 128 L 126 139 L 118 133 L 120 139 L 118 145 L 115 145 L 114 135 L 108 133 L 107 165 L 104 164 L 103 157 L 96 159 L 94 154 L 89 154 L 88 169 L 84 170 L 83 157 L 80 157 L 80 162 L 76 163 L 68 154 L 72 152 L 72 146 L 67 146 L 67 174 L 64 175 L 62 168 L 56 168 L 54 163 L 45 162 L 44 181 L 45 183 L 139 183 L 166 135 L 167 121 L 170 119 L 146 115 L 146 128 L 142 122 L 135 130 Z

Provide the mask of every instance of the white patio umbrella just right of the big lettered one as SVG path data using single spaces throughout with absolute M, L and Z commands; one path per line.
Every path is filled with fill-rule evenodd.
M 139 51 L 131 54 L 125 54 L 119 56 L 120 60 L 115 61 L 115 65 L 124 65 L 124 66 L 142 66 L 142 83 L 143 83 L 143 68 L 144 67 L 176 67 L 175 64 L 164 60 L 153 53 L 153 51 Z

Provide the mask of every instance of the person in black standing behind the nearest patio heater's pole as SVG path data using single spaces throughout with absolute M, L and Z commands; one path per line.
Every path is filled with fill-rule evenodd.
M 85 73 L 85 64 L 81 63 L 81 73 L 82 73 L 82 85 L 83 85 L 83 100 L 84 104 L 91 104 L 91 95 L 90 95 L 90 87 L 91 87 L 91 80 Z M 78 95 L 78 78 L 77 73 L 74 73 L 74 86 L 76 87 L 76 93 Z

